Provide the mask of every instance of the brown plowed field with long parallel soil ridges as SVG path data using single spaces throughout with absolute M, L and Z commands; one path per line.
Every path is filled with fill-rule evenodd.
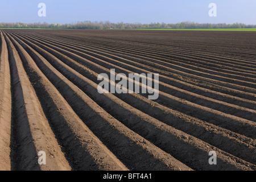
M 256 32 L 0 32 L 1 170 L 256 170 Z M 98 93 L 110 69 L 159 98 Z

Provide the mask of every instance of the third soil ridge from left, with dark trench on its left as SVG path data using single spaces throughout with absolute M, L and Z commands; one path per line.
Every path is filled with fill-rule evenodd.
M 13 38 L 11 39 L 16 43 Z M 24 68 L 36 90 L 43 110 L 48 113 L 47 118 L 53 127 L 58 142 L 61 143 L 63 150 L 68 155 L 72 169 L 87 171 L 127 170 L 84 125 L 28 53 L 18 43 L 16 45 L 20 55 L 22 55 Z

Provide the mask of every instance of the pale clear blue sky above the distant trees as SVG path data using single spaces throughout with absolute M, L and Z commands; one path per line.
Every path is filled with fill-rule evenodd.
M 46 4 L 46 17 L 38 4 Z M 216 3 L 217 17 L 210 17 Z M 245 23 L 256 24 L 256 0 L 1 0 L 0 22 L 72 23 L 77 21 L 125 23 Z

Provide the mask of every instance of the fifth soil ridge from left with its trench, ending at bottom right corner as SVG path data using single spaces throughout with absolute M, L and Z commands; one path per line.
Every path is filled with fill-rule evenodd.
M 68 77 L 69 80 L 76 83 L 76 85 L 80 85 L 80 88 L 85 93 L 90 94 L 90 96 L 93 97 L 94 100 L 97 100 L 97 103 L 103 102 L 101 103 L 101 105 L 104 105 L 105 109 L 111 108 L 108 110 L 109 113 L 112 113 L 112 115 L 114 115 L 115 117 L 120 118 L 119 121 L 124 122 L 125 125 L 129 126 L 131 129 L 135 130 L 137 133 L 141 134 L 146 139 L 151 140 L 152 143 L 154 144 L 157 143 L 157 146 L 159 146 L 160 148 L 164 148 L 165 151 L 168 151 L 170 154 L 176 156 L 177 159 L 180 158 L 180 160 L 182 162 L 185 162 L 185 164 L 195 164 L 195 166 L 200 166 L 200 163 L 198 163 L 198 161 L 199 161 L 199 158 L 204 158 L 203 154 L 205 154 L 205 160 L 207 160 L 207 157 L 208 157 L 207 154 L 209 150 L 213 150 L 214 148 L 213 146 L 210 146 L 209 144 L 204 143 L 199 139 L 193 138 L 190 135 L 182 133 L 179 130 L 176 130 L 168 125 L 165 125 L 160 121 L 157 121 L 156 119 L 150 117 L 149 115 L 146 115 L 141 111 L 134 109 L 133 107 L 125 104 L 125 102 L 118 100 L 118 98 L 114 97 L 112 94 L 106 94 L 106 95 L 98 94 L 97 84 L 81 76 L 76 71 L 73 71 L 72 68 L 69 68 L 67 67 L 67 65 L 64 65 L 62 61 L 57 59 L 55 56 L 51 54 L 48 54 L 47 56 L 46 51 L 40 50 L 40 48 L 36 47 L 35 45 L 34 45 L 34 48 L 36 48 L 36 50 L 40 52 L 40 54 L 47 57 L 47 60 L 51 64 L 53 64 L 55 68 L 59 69 L 61 73 L 63 73 L 66 77 Z M 122 119 L 120 115 L 118 115 L 118 113 L 122 113 L 122 117 L 125 117 L 126 119 Z M 130 116 L 130 118 L 128 117 L 128 115 Z M 149 133 L 149 131 L 151 132 Z M 189 142 L 184 140 L 184 138 L 189 139 Z M 165 142 L 163 142 L 163 140 Z M 177 143 L 175 150 L 170 146 L 170 143 Z M 186 150 L 187 152 L 184 151 L 185 148 L 187 148 Z M 232 155 L 229 155 L 224 151 L 218 150 L 217 148 L 214 148 L 214 149 L 218 151 L 219 160 L 221 160 L 220 162 L 221 168 L 224 167 L 227 162 L 228 164 L 224 168 L 242 169 L 243 167 L 246 167 L 246 165 L 249 165 L 249 166 L 253 165 L 250 163 L 246 164 L 246 162 L 243 162 L 241 159 L 238 159 Z M 183 154 L 180 154 L 181 151 L 183 151 Z M 192 161 L 188 161 L 188 159 L 185 158 L 185 156 L 189 155 L 189 151 L 192 152 L 193 154 L 195 153 L 198 154 L 196 156 L 195 155 L 193 156 L 194 159 Z M 235 160 L 237 162 L 238 161 L 240 162 L 233 166 L 232 162 L 230 162 L 229 160 L 233 160 L 234 158 L 236 158 Z M 192 168 L 195 166 L 192 166 Z M 202 168 L 212 169 L 212 167 L 209 166 L 209 164 L 203 165 Z M 197 169 L 200 169 L 200 168 L 197 168 Z

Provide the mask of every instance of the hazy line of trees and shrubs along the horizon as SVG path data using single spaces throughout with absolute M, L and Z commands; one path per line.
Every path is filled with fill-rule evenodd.
M 112 23 L 109 21 L 105 22 L 75 22 L 75 23 L 0 23 L 0 28 L 64 28 L 64 29 L 155 29 L 155 28 L 173 28 L 173 29 L 200 29 L 200 28 L 256 28 L 254 24 L 243 24 L 243 23 L 195 23 L 195 22 L 181 22 L 181 23 Z

